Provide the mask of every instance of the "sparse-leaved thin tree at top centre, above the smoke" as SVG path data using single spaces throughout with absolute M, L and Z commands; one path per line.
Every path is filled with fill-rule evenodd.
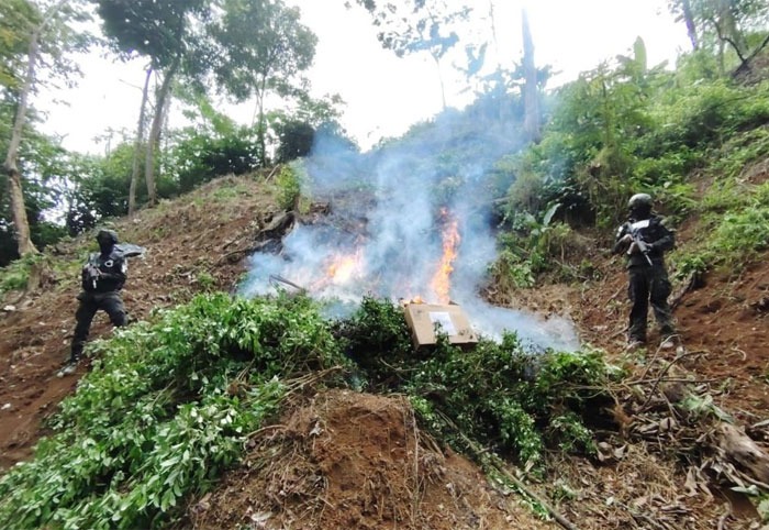
M 459 42 L 453 25 L 467 20 L 471 8 L 449 0 L 405 0 L 402 4 L 357 0 L 357 3 L 371 14 L 374 25 L 380 29 L 377 38 L 382 47 L 399 57 L 420 52 L 430 54 L 438 74 L 443 109 L 446 109 L 441 59 Z

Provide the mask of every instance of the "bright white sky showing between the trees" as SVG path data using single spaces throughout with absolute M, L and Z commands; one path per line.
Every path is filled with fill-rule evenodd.
M 469 1 L 469 0 L 468 0 Z M 299 5 L 302 21 L 319 37 L 315 63 L 309 77 L 316 97 L 338 92 L 347 102 L 342 119 L 347 132 L 364 148 L 382 136 L 404 133 L 417 121 L 441 110 L 441 89 L 435 64 L 428 56 L 398 58 L 382 49 L 376 29 L 360 8 L 346 10 L 344 0 L 287 0 Z M 538 66 L 550 64 L 561 74 L 550 81 L 573 79 L 601 60 L 627 54 L 637 36 L 646 43 L 649 65 L 675 63 L 687 47 L 686 27 L 676 24 L 665 0 L 532 0 L 527 4 L 530 26 Z M 472 2 L 488 13 L 488 1 Z M 500 62 L 512 69 L 522 55 L 520 12 L 524 2 L 494 1 Z M 480 24 L 477 32 L 491 34 Z M 461 43 L 460 43 L 461 44 Z M 74 90 L 43 95 L 35 102 L 48 112 L 43 126 L 64 136 L 69 150 L 100 153 L 103 141 L 94 141 L 112 128 L 134 130 L 140 86 L 144 80 L 142 62 L 114 64 L 92 54 L 82 64 L 83 78 Z M 467 87 L 446 62 L 442 71 L 447 82 L 449 106 L 467 103 Z M 453 78 L 454 77 L 454 78 Z M 69 104 L 47 103 L 63 100 Z M 246 110 L 247 109 L 247 110 Z M 237 109 L 234 119 L 248 123 L 253 104 Z M 180 125 L 175 119 L 171 126 Z

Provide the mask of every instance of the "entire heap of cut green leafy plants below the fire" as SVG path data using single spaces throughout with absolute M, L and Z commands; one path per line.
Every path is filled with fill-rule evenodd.
M 584 426 L 601 400 L 593 387 L 611 373 L 597 352 L 533 356 L 514 335 L 415 352 L 403 311 L 375 299 L 332 322 L 304 297 L 200 296 L 90 352 L 92 371 L 51 420 L 53 435 L 0 478 L 3 528 L 164 527 L 237 464 L 297 377 L 324 368 L 408 391 L 447 441 L 457 440 L 441 415 L 530 463 L 545 443 L 593 450 Z

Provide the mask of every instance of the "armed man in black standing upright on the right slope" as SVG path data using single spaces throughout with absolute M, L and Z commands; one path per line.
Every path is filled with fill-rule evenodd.
M 670 280 L 665 268 L 664 254 L 676 244 L 673 233 L 662 219 L 651 211 L 651 197 L 636 194 L 627 203 L 628 221 L 616 232 L 614 253 L 627 255 L 628 295 L 631 309 L 627 333 L 628 349 L 646 344 L 646 320 L 651 303 L 661 336 L 660 347 L 675 347 L 676 329 L 668 305 Z

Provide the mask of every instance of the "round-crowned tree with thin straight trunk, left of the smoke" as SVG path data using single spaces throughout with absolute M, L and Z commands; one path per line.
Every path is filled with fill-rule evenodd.
M 265 97 L 300 95 L 293 81 L 315 56 L 317 37 L 300 23 L 300 11 L 280 0 L 224 0 L 213 27 L 220 53 L 214 73 L 236 101 L 256 97 L 257 135 L 266 163 Z

